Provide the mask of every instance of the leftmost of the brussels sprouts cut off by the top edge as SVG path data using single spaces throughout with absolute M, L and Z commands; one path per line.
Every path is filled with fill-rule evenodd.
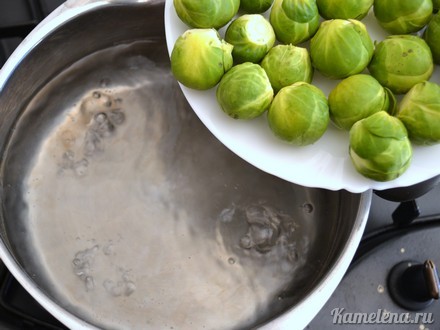
M 173 0 L 177 16 L 192 28 L 219 29 L 237 14 L 240 0 Z

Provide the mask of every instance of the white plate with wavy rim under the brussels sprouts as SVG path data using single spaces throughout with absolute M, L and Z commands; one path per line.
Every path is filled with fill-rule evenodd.
M 386 33 L 377 24 L 372 12 L 362 22 L 367 25 L 373 41 L 385 38 Z M 169 54 L 177 38 L 187 29 L 189 27 L 175 12 L 173 0 L 166 0 L 165 33 Z M 224 31 L 225 28 L 220 30 L 222 36 Z M 440 83 L 438 65 L 431 81 Z M 327 95 L 337 82 L 315 71 L 313 84 Z M 265 115 L 248 121 L 227 116 L 217 104 L 216 87 L 208 91 L 192 90 L 181 84 L 180 87 L 197 116 L 226 147 L 259 169 L 287 181 L 307 187 L 346 189 L 358 193 L 368 189 L 410 186 L 440 174 L 440 144 L 414 146 L 411 166 L 402 176 L 388 182 L 377 182 L 356 172 L 348 155 L 348 132 L 338 130 L 332 124 L 315 144 L 296 147 L 274 136 Z

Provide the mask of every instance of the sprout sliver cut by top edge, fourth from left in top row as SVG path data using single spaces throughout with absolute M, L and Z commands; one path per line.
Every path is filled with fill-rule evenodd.
M 346 0 L 341 5 L 340 0 L 317 0 L 319 13 L 325 19 L 357 19 L 367 16 L 374 0 Z

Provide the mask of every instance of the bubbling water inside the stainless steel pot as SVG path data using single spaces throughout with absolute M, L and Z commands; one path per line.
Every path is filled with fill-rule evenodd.
M 297 299 L 316 206 L 220 145 L 164 58 L 154 42 L 101 51 L 27 109 L 36 277 L 100 327 L 246 328 Z

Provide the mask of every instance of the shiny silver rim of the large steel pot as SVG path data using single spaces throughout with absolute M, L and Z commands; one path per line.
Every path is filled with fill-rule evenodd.
M 155 0 L 68 0 L 49 16 L 47 16 L 16 48 L 13 54 L 0 70 L 0 91 L 3 90 L 11 75 L 20 65 L 21 61 L 36 47 L 44 38 L 57 28 L 65 24 L 67 21 L 73 20 L 84 13 L 99 8 L 113 6 L 116 4 L 139 4 L 146 2 L 154 2 Z M 369 209 L 372 199 L 372 190 L 367 190 L 359 194 L 360 200 L 358 212 L 353 223 L 353 229 L 344 243 L 334 264 L 327 271 L 324 277 L 317 283 L 314 289 L 295 307 L 276 316 L 261 326 L 261 329 L 284 329 L 292 328 L 295 324 L 297 329 L 305 328 L 308 323 L 316 316 L 319 310 L 324 306 L 331 294 L 342 280 L 349 264 L 356 252 L 364 232 Z M 47 311 L 49 311 L 56 319 L 69 328 L 75 329 L 98 329 L 97 327 L 87 323 L 74 314 L 68 312 L 54 300 L 42 292 L 33 282 L 32 278 L 21 267 L 18 260 L 13 257 L 7 244 L 0 240 L 0 258 L 9 269 L 11 274 L 37 300 Z M 314 306 L 314 308 L 310 308 Z

